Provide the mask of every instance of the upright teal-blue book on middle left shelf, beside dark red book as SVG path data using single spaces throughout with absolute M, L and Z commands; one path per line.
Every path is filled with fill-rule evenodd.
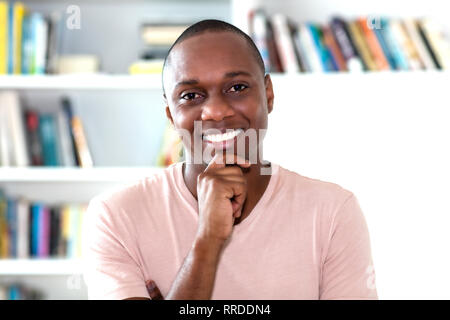
M 39 116 L 39 134 L 42 143 L 42 157 L 44 166 L 58 166 L 58 145 L 56 141 L 57 129 L 55 118 L 52 114 Z

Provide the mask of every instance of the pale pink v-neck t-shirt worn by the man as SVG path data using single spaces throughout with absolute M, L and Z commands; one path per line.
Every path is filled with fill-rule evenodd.
M 253 211 L 223 249 L 212 299 L 377 299 L 370 239 L 355 196 L 272 163 Z M 91 200 L 83 235 L 90 299 L 163 296 L 193 243 L 197 200 L 182 162 Z

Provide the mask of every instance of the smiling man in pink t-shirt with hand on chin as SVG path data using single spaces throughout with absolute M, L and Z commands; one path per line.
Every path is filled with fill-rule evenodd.
M 247 135 L 267 129 L 274 93 L 245 33 L 189 27 L 163 89 L 186 160 L 91 200 L 90 298 L 377 299 L 355 196 L 264 161 L 264 135 Z

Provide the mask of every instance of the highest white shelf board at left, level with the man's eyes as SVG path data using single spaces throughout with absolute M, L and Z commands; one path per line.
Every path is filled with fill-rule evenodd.
M 2 75 L 0 89 L 160 90 L 161 75 Z

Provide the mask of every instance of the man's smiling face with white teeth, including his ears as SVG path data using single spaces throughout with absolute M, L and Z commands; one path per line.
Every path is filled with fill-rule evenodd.
M 202 141 L 202 152 L 212 147 L 234 153 L 239 139 L 245 139 L 240 140 L 246 146 L 243 156 L 258 154 L 259 132 L 267 129 L 274 96 L 270 76 L 264 77 L 244 38 L 204 32 L 180 42 L 170 53 L 163 83 L 167 117 L 176 130 L 189 133 L 190 143 L 183 143 L 191 158 L 194 139 Z M 194 130 L 195 123 L 201 131 Z M 256 143 L 248 138 L 252 132 Z

